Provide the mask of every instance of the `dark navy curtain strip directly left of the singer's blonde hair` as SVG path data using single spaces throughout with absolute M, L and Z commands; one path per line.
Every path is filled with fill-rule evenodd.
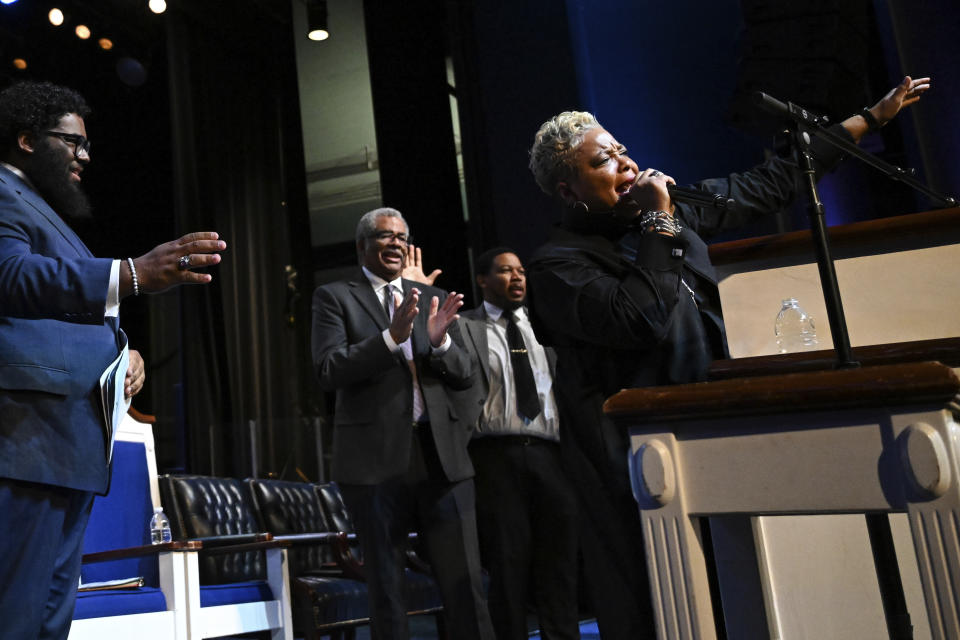
M 463 166 L 475 252 L 506 245 L 526 260 L 559 208 L 527 169 L 540 125 L 583 108 L 564 2 L 447 0 Z

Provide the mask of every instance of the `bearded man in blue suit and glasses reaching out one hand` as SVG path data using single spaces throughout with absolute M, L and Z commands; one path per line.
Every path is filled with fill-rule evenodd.
M 66 638 L 93 496 L 110 478 L 100 376 L 120 354 L 120 300 L 211 276 L 226 248 L 193 233 L 139 258 L 95 258 L 68 221 L 89 210 L 89 108 L 49 83 L 0 92 L 0 620 Z M 143 364 L 130 358 L 125 395 Z M 144 523 L 146 526 L 146 523 Z

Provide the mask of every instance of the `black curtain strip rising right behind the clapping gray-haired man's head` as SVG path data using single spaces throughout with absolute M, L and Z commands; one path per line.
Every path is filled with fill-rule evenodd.
M 399 209 L 437 285 L 470 291 L 441 3 L 364 1 L 383 204 Z

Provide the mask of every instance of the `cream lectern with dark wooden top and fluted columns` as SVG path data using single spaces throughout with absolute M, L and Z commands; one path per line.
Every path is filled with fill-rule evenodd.
M 830 233 L 861 368 L 775 355 L 784 298 L 831 344 L 796 232 L 711 248 L 734 359 L 710 382 L 607 402 L 663 638 L 887 637 L 864 513 L 894 514 L 914 637 L 960 637 L 960 209 Z

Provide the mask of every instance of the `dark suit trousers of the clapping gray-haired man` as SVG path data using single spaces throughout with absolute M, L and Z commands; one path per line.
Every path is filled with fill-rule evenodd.
M 372 636 L 410 637 L 404 600 L 408 533 L 422 536 L 454 640 L 493 640 L 481 580 L 473 479 L 449 482 L 429 425 L 413 428 L 406 475 L 376 485 L 341 484 L 363 551 Z

